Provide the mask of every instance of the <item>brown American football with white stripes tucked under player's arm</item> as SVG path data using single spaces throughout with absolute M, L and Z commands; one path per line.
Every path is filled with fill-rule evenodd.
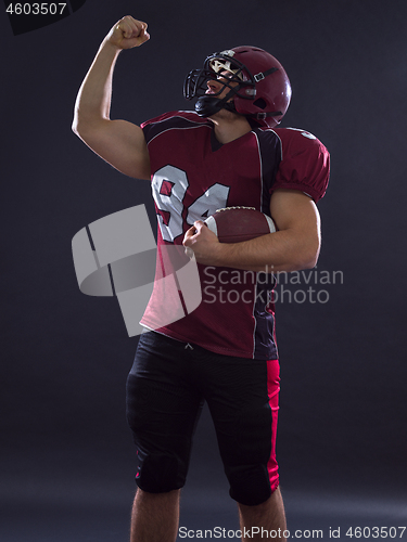
M 272 219 L 254 207 L 218 209 L 205 223 L 220 243 L 240 243 L 276 231 Z

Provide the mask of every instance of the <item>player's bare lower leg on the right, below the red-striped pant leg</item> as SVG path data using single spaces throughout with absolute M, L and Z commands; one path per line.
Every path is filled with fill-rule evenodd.
M 283 532 L 287 529 L 287 524 L 280 488 L 277 488 L 265 503 L 256 506 L 245 506 L 239 503 L 239 516 L 243 542 L 249 540 L 264 541 L 266 534 L 262 537 L 262 528 L 264 531 L 267 530 L 268 533 L 276 531 L 277 537 L 275 540 L 285 541 Z M 244 528 L 247 533 L 250 532 L 250 535 L 244 537 Z

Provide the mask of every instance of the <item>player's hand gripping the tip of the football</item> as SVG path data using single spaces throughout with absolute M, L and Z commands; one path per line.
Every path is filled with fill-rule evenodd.
M 205 266 L 217 266 L 219 259 L 220 243 L 202 220 L 196 220 L 183 237 L 183 246 L 193 250 L 196 261 Z

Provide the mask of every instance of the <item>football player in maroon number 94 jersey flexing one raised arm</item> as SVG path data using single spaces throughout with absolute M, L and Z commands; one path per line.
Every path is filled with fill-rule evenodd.
M 285 540 L 276 460 L 274 273 L 316 264 L 316 203 L 327 189 L 329 154 L 309 132 L 279 127 L 290 80 L 277 59 L 252 46 L 213 53 L 188 74 L 183 93 L 195 100 L 194 111 L 164 113 L 140 126 L 112 119 L 117 57 L 149 39 L 148 25 L 131 16 L 113 26 L 80 87 L 73 124 L 105 162 L 151 182 L 157 268 L 162 247 L 183 244 L 196 258 L 203 291 L 198 309 L 160 326 L 168 301 L 154 288 L 141 321 L 147 332 L 127 382 L 138 451 L 131 542 L 176 540 L 180 489 L 204 401 L 238 503 L 242 540 L 263 540 L 263 531 L 252 528 Z M 219 243 L 204 219 L 229 206 L 272 217 L 277 231 Z M 220 298 L 219 288 L 237 295 Z

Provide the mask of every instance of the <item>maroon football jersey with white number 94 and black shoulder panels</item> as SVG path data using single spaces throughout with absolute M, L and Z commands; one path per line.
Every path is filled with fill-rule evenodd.
M 329 154 L 306 131 L 254 128 L 222 145 L 211 120 L 192 112 L 167 113 L 142 128 L 158 219 L 157 262 L 163 245 L 181 245 L 195 220 L 219 208 L 254 207 L 270 216 L 276 189 L 300 190 L 315 202 L 326 192 Z M 199 272 L 198 309 L 160 327 L 163 302 L 169 301 L 154 288 L 141 324 L 218 353 L 277 359 L 274 276 L 202 264 Z

